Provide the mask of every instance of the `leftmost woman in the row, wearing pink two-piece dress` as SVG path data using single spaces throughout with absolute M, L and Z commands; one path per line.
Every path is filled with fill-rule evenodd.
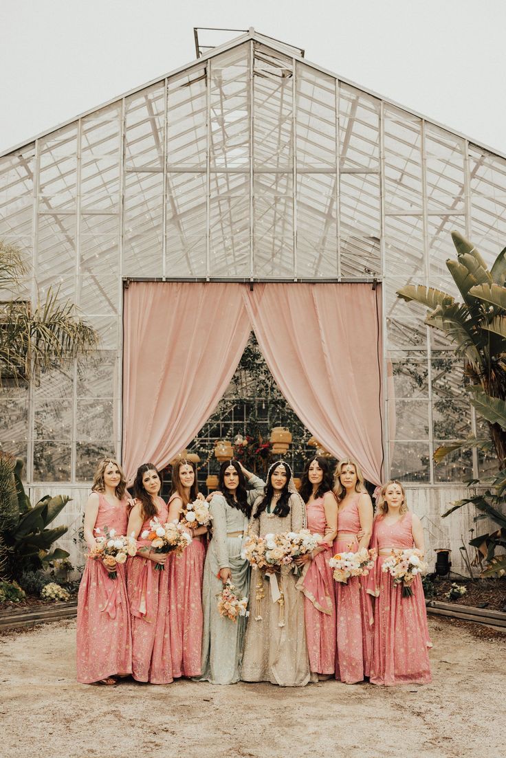
M 93 492 L 84 511 L 84 539 L 88 549 L 104 528 L 127 534 L 126 481 L 115 459 L 99 462 Z M 130 613 L 124 565 L 117 565 L 111 579 L 102 561 L 86 559 L 77 596 L 77 681 L 116 684 L 115 675 L 132 671 Z

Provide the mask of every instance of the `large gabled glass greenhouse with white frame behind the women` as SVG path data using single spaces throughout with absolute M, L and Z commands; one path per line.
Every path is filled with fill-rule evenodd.
M 86 362 L 5 387 L 1 448 L 26 461 L 35 500 L 70 494 L 78 525 L 96 459 L 124 457 L 124 308 L 135 287 L 234 284 L 254 298 L 271 284 L 360 284 L 379 319 L 369 357 L 383 478 L 409 485 L 430 547 L 451 547 L 458 567 L 470 517 L 439 516 L 488 462 L 471 449 L 438 465 L 432 455 L 482 422 L 462 359 L 396 291 L 422 283 L 458 294 L 445 265 L 452 230 L 492 265 L 506 238 L 506 158 L 256 30 L 197 52 L 0 157 L 0 239 L 31 262 L 22 296 L 36 302 L 59 287 L 100 335 Z M 256 350 L 253 337 L 248 346 Z M 266 435 L 285 420 L 275 383 L 264 374 L 250 384 L 236 374 L 212 421 L 181 443 L 200 455 L 203 482 L 216 440 L 245 434 L 252 414 Z M 297 455 L 314 450 L 310 424 L 291 431 Z

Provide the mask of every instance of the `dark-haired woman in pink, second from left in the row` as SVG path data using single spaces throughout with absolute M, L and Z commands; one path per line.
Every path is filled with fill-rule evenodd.
M 132 617 L 132 675 L 137 681 L 168 684 L 172 681 L 168 614 L 168 553 L 156 553 L 143 531 L 157 517 L 165 524 L 168 510 L 159 492 L 162 479 L 152 463 L 137 468 L 136 500 L 128 520 L 128 534 L 137 539 L 137 556 L 127 562 L 127 590 Z M 163 570 L 158 570 L 156 564 Z

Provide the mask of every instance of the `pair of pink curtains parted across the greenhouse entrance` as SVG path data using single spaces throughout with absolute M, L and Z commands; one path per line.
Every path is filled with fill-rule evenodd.
M 369 284 L 131 283 L 124 299 L 123 463 L 160 467 L 196 435 L 253 326 L 281 392 L 336 458 L 381 481 L 377 291 Z

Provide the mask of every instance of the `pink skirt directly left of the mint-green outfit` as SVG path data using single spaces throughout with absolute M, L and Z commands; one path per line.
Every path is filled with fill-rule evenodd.
M 194 539 L 168 560 L 172 674 L 200 676 L 202 658 L 202 582 L 206 548 Z

